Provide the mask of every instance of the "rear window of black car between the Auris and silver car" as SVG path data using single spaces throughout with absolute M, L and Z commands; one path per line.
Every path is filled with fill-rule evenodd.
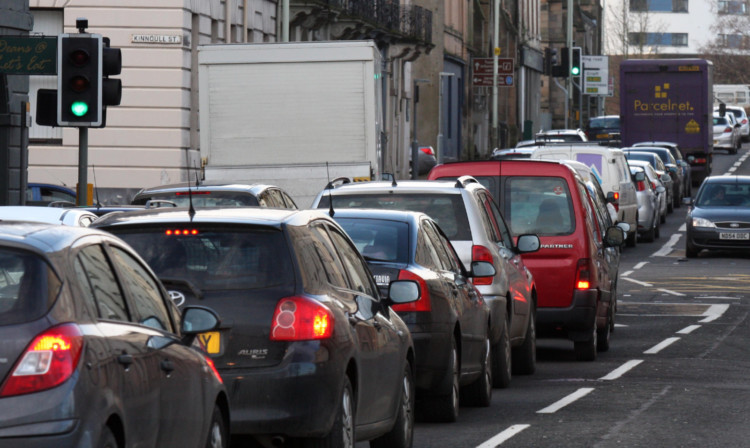
M 409 226 L 405 222 L 334 218 L 367 261 L 409 262 Z

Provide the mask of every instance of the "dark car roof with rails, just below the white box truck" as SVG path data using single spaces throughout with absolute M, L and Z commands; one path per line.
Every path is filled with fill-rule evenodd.
M 281 188 L 265 184 L 188 182 L 144 188 L 133 197 L 134 205 L 187 207 L 273 207 L 296 209 L 297 204 Z

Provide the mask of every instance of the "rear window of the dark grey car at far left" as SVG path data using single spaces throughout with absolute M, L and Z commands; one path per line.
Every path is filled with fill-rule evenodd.
M 39 319 L 52 306 L 61 286 L 38 255 L 0 248 L 0 325 Z

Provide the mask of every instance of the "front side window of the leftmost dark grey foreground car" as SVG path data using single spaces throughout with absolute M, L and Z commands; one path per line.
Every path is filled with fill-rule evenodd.
M 130 292 L 138 323 L 159 330 L 174 332 L 169 321 L 169 312 L 164 303 L 164 297 L 161 295 L 161 290 L 156 281 L 129 253 L 119 247 L 110 247 L 113 249 L 114 263 L 117 265 L 122 283 Z

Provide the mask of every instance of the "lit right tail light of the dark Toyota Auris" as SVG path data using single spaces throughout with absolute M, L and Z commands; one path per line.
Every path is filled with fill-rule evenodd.
M 333 334 L 333 313 L 303 296 L 285 297 L 276 304 L 271 321 L 272 341 L 327 339 Z

